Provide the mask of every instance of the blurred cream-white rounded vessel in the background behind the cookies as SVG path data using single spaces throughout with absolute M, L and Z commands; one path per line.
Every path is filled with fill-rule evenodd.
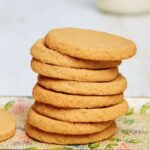
M 98 7 L 110 13 L 136 14 L 150 11 L 150 0 L 97 0 Z

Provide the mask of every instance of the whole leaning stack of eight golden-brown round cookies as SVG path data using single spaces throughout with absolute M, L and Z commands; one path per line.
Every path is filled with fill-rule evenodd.
M 128 110 L 127 81 L 118 71 L 136 53 L 134 42 L 92 30 L 51 30 L 31 49 L 38 73 L 26 133 L 55 144 L 86 144 L 111 137 Z

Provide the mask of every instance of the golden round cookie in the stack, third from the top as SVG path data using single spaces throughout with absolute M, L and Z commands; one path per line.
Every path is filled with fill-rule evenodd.
M 31 67 L 36 73 L 46 77 L 74 81 L 111 81 L 118 75 L 117 68 L 104 70 L 74 69 L 44 64 L 36 59 L 32 59 Z

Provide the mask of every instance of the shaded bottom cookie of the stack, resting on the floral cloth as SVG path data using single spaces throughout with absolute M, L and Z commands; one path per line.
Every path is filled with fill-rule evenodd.
M 112 135 L 115 134 L 117 126 L 116 123 L 114 122 L 112 125 L 110 125 L 103 131 L 88 135 L 63 135 L 63 134 L 49 133 L 39 130 L 29 124 L 26 124 L 25 130 L 30 137 L 45 143 L 88 144 L 110 138 Z

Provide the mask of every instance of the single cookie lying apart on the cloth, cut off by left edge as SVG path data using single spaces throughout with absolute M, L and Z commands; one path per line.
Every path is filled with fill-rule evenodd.
M 16 121 L 12 114 L 0 109 L 0 142 L 8 140 L 16 133 Z

